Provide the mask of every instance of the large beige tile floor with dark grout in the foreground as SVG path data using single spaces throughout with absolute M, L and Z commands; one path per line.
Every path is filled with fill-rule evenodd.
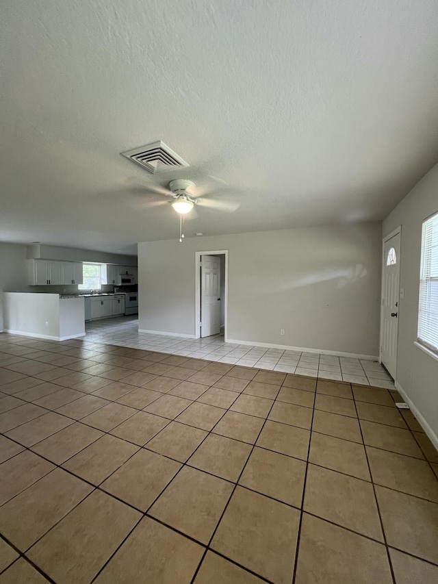
M 437 582 L 438 453 L 396 401 L 1 333 L 0 584 Z

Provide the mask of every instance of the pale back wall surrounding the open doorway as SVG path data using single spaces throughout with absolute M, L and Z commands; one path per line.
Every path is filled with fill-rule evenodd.
M 378 355 L 378 223 L 139 243 L 139 328 L 194 335 L 195 251 L 221 249 L 229 339 Z

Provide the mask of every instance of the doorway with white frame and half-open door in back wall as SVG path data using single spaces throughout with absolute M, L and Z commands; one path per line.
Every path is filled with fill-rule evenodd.
M 227 341 L 228 250 L 195 252 L 195 338 Z

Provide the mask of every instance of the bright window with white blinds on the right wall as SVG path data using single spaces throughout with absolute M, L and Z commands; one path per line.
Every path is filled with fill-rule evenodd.
M 418 340 L 438 353 L 438 213 L 423 223 Z

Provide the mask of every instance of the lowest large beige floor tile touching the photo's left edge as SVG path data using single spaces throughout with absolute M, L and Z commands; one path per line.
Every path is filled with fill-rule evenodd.
M 0 507 L 1 531 L 25 551 L 92 490 L 87 483 L 55 468 Z

